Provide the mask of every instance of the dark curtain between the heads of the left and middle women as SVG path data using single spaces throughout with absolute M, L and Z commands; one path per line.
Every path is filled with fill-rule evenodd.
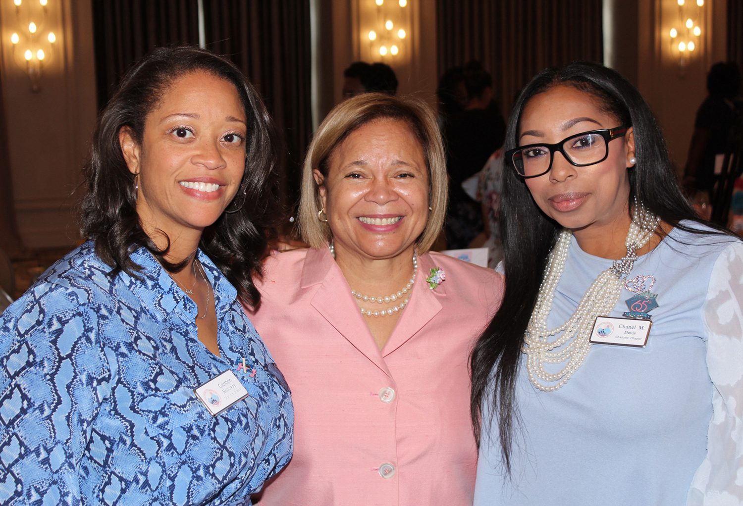
M 261 92 L 285 134 L 288 202 L 312 134 L 310 2 L 204 0 L 207 48 L 224 54 Z

